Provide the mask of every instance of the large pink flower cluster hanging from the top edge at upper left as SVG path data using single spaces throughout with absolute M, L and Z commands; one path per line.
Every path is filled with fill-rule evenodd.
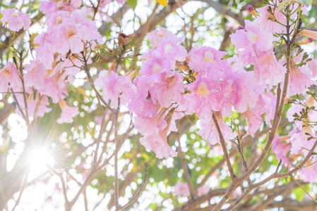
M 102 41 L 95 22 L 87 18 L 87 9 L 78 9 L 81 3 L 71 1 L 71 4 L 56 6 L 54 1 L 42 1 L 40 9 L 47 15 L 47 31 L 35 37 L 36 59 L 30 68 L 25 68 L 29 70 L 25 77 L 33 78 L 28 79 L 28 86 L 35 87 L 40 94 L 51 97 L 53 103 L 59 102 L 60 106 L 65 104 L 61 102 L 68 96 L 67 82 L 72 82 L 79 71 L 76 67 L 66 67 L 81 65 L 71 55 L 83 56 L 86 47 L 93 49 L 95 40 Z M 35 80 L 34 75 L 41 79 Z M 43 83 L 47 86 L 40 86 Z M 78 108 L 61 106 L 61 110 L 58 123 L 73 122 L 73 115 L 78 114 Z

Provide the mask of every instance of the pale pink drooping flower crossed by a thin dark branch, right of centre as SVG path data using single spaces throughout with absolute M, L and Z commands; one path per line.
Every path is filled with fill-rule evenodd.
M 222 120 L 221 112 L 214 112 L 217 122 L 219 124 L 221 133 L 225 141 L 235 139 L 237 137 L 237 132 L 232 132 L 232 129 Z M 201 129 L 197 132 L 205 140 L 208 140 L 211 145 L 216 143 L 220 144 L 219 134 L 213 119 L 211 120 L 201 120 Z

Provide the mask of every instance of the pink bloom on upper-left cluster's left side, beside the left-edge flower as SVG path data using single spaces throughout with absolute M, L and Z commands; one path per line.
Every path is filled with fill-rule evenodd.
M 40 89 L 44 85 L 44 76 L 47 75 L 46 68 L 42 63 L 32 60 L 26 66 L 27 73 L 23 75 L 25 86 Z

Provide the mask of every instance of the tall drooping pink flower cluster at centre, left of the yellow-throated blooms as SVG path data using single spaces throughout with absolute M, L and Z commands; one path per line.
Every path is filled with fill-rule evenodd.
M 186 49 L 171 32 L 160 28 L 150 35 L 156 48 L 143 55 L 140 75 L 129 87 L 128 108 L 136 114 L 140 143 L 155 151 L 157 158 L 176 156 L 167 144 L 167 133 L 175 131 L 174 120 L 181 117 L 177 103 L 184 103 L 183 75 L 177 61 L 186 59 Z M 164 37 L 165 39 L 162 39 Z

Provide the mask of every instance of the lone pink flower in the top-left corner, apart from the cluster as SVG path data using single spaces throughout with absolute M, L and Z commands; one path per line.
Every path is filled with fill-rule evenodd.
M 31 25 L 30 15 L 16 11 L 15 8 L 9 8 L 1 11 L 4 15 L 0 20 L 2 26 L 8 24 L 8 29 L 18 32 L 20 29 L 28 30 Z

